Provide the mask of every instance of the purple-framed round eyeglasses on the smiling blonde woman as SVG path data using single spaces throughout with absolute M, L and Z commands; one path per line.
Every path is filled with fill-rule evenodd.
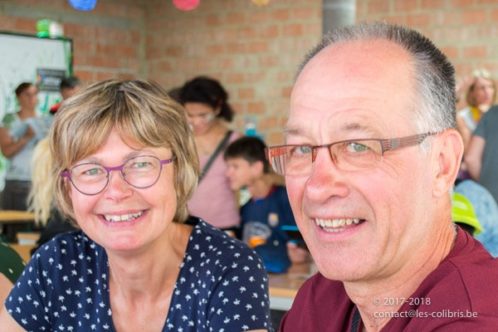
M 112 171 L 119 171 L 129 185 L 145 189 L 157 182 L 163 165 L 173 160 L 175 157 L 160 160 L 154 156 L 139 156 L 114 167 L 105 167 L 97 163 L 82 163 L 63 171 L 61 176 L 69 178 L 74 188 L 85 195 L 101 193 L 107 187 Z

